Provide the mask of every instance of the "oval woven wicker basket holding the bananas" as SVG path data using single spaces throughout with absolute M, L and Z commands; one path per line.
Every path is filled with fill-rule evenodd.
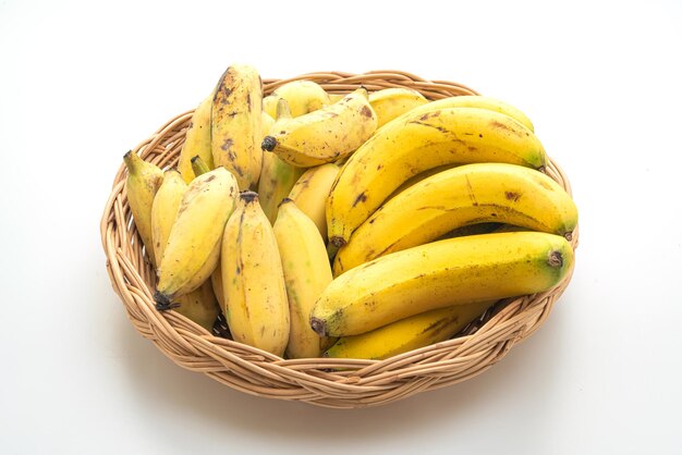
M 477 95 L 465 86 L 425 81 L 397 71 L 365 74 L 312 73 L 290 79 L 264 81 L 265 94 L 294 79 L 310 79 L 329 93 L 409 87 L 429 99 Z M 175 116 L 134 151 L 159 167 L 176 163 L 192 112 Z M 560 168 L 549 160 L 547 173 L 571 192 Z M 310 358 L 285 360 L 220 336 L 175 311 L 159 312 L 151 297 L 155 274 L 143 256 L 124 189 L 125 169 L 119 169 L 101 219 L 107 270 L 131 322 L 175 364 L 203 372 L 232 389 L 269 398 L 301 401 L 319 406 L 377 406 L 419 392 L 443 388 L 482 373 L 502 359 L 516 343 L 534 333 L 548 317 L 571 275 L 553 290 L 499 302 L 459 336 L 386 360 Z M 577 246 L 577 229 L 572 246 Z

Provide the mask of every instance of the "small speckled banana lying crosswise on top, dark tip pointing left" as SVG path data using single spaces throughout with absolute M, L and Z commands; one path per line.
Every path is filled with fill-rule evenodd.
M 339 102 L 273 127 L 261 147 L 292 165 L 312 168 L 355 151 L 376 128 L 367 90 L 358 88 Z

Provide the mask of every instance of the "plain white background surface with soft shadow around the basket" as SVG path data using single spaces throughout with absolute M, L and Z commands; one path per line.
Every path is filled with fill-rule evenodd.
M 0 453 L 679 454 L 682 3 L 0 1 Z M 393 405 L 252 397 L 127 321 L 122 155 L 224 67 L 401 69 L 507 100 L 564 168 L 576 271 L 486 373 Z

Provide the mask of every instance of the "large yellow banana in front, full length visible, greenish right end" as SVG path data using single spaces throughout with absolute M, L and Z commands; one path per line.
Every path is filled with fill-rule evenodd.
M 313 307 L 310 325 L 320 336 L 356 335 L 431 309 L 547 291 L 572 266 L 569 242 L 544 232 L 434 242 L 337 276 Z

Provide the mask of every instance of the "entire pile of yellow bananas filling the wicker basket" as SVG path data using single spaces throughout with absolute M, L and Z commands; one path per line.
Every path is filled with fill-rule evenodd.
M 577 211 L 523 112 L 405 88 L 264 97 L 231 65 L 176 169 L 124 156 L 157 309 L 288 358 L 381 359 L 452 337 L 573 266 Z

